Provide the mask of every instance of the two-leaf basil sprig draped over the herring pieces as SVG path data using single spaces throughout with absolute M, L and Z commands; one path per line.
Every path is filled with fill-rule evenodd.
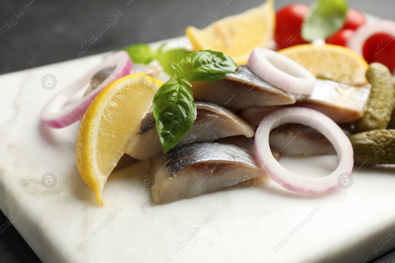
M 191 81 L 214 82 L 236 71 L 238 65 L 226 54 L 200 50 L 175 64 L 175 76 L 156 91 L 152 101 L 156 128 L 163 152 L 173 148 L 189 132 L 196 119 Z

